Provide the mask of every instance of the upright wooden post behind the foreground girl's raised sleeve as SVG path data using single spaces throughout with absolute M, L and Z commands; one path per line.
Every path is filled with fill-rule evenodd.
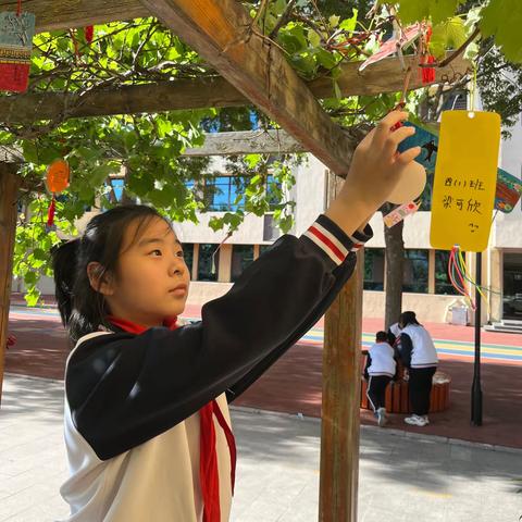
M 343 181 L 330 174 L 332 201 Z M 320 522 L 357 522 L 364 253 L 326 313 L 323 349 Z

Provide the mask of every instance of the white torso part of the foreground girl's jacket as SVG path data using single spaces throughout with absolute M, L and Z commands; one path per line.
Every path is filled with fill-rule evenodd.
M 76 348 L 86 339 L 103 334 L 105 332 L 84 336 L 78 340 Z M 215 400 L 231 425 L 225 394 Z M 215 417 L 213 421 L 220 476 L 221 520 L 227 521 L 232 505 L 231 453 L 225 434 Z M 202 521 L 199 413 L 109 460 L 100 460 L 78 433 L 71 418 L 66 398 L 64 430 L 70 478 L 63 484 L 60 493 L 71 506 L 71 515 L 63 522 Z M 161 502 L 157 501 L 159 499 Z

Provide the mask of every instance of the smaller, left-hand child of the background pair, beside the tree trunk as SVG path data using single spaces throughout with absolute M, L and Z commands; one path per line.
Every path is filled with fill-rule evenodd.
M 377 332 L 375 344 L 368 350 L 364 377 L 368 380 L 366 396 L 380 426 L 387 423 L 386 387 L 394 378 L 396 370 L 395 351 L 388 344 L 388 334 Z

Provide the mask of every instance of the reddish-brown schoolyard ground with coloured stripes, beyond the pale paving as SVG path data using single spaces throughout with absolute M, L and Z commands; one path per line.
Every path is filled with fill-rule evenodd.
M 15 301 L 18 304 L 20 300 Z M 199 307 L 187 307 L 186 316 L 198 318 Z M 473 376 L 473 328 L 430 323 L 426 325 L 437 338 L 442 363 L 449 373 L 451 407 L 432 415 L 432 424 L 424 428 L 406 426 L 402 415 L 394 415 L 391 426 L 411 432 L 461 438 L 487 444 L 522 448 L 522 336 L 485 332 L 484 351 L 484 425 L 470 425 L 470 389 Z M 380 330 L 378 320 L 365 320 L 362 345 Z M 25 375 L 62 378 L 67 347 L 58 312 L 52 309 L 27 309 L 15 306 L 10 314 L 10 330 L 18 343 L 9 350 L 8 371 Z M 266 372 L 237 405 L 261 410 L 321 417 L 322 322 L 293 347 Z M 468 355 L 462 355 L 465 351 Z M 495 356 L 495 357 L 493 357 Z M 361 411 L 362 422 L 373 424 L 372 415 Z

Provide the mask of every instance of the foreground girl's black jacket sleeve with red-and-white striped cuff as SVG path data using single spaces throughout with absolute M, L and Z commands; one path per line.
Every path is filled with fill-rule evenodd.
M 324 314 L 371 236 L 366 226 L 349 237 L 321 215 L 299 238 L 279 238 L 200 322 L 80 341 L 65 372 L 75 427 L 105 460 L 223 393 L 233 400 Z

